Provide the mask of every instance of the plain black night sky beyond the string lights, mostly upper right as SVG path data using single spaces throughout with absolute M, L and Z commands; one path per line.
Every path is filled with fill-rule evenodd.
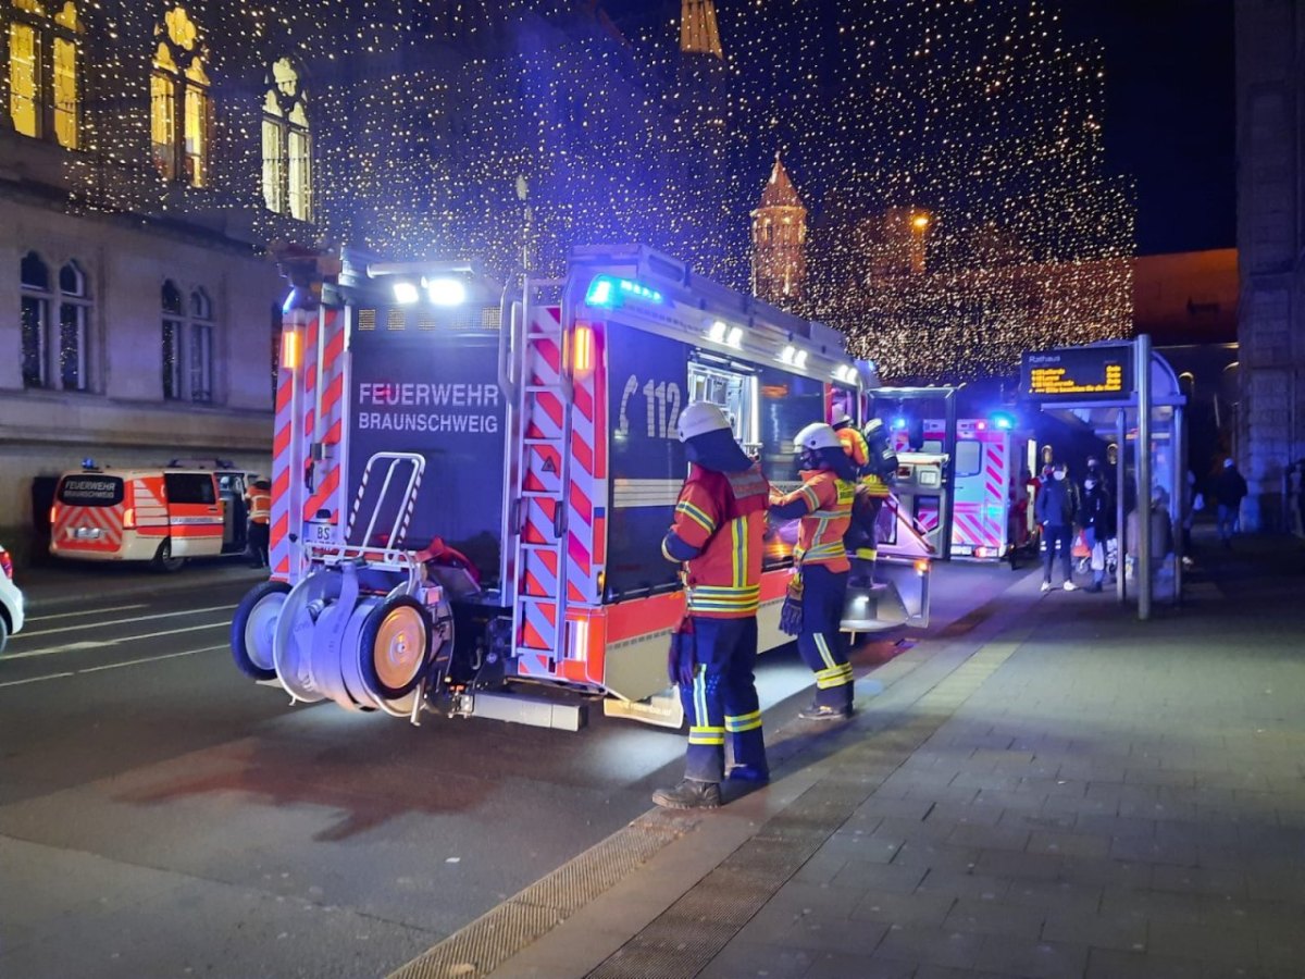
M 716 0 L 718 7 L 745 0 Z M 812 8 L 837 0 L 813 0 Z M 846 3 L 846 0 L 843 0 Z M 1105 51 L 1111 170 L 1137 183 L 1139 255 L 1229 248 L 1235 235 L 1233 0 L 1061 0 Z M 629 34 L 679 0 L 603 0 Z M 728 50 L 729 38 L 722 43 Z

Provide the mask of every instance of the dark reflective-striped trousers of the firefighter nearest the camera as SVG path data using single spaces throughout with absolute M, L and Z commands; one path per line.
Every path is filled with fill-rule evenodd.
M 696 615 L 693 637 L 693 684 L 680 684 L 680 700 L 689 718 L 684 777 L 720 782 L 727 736 L 736 765 L 765 770 L 761 702 L 752 672 L 757 659 L 757 619 Z

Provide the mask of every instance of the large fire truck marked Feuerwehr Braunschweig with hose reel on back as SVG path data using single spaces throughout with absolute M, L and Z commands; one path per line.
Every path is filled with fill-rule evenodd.
M 843 337 L 638 245 L 574 249 L 562 279 L 474 265 L 283 256 L 271 577 L 231 646 L 292 701 L 574 730 L 587 700 L 677 727 L 684 614 L 662 556 L 693 401 L 726 409 L 773 484 L 831 392 L 877 384 Z M 767 536 L 761 647 L 796 522 Z M 881 552 L 859 632 L 928 615 L 929 560 Z M 579 694 L 579 696 L 577 696 Z

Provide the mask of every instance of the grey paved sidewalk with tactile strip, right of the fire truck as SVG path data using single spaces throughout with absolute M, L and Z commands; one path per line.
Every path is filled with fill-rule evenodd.
M 776 781 L 650 812 L 399 976 L 1305 975 L 1305 561 L 1138 623 L 1036 574 L 874 671 Z

